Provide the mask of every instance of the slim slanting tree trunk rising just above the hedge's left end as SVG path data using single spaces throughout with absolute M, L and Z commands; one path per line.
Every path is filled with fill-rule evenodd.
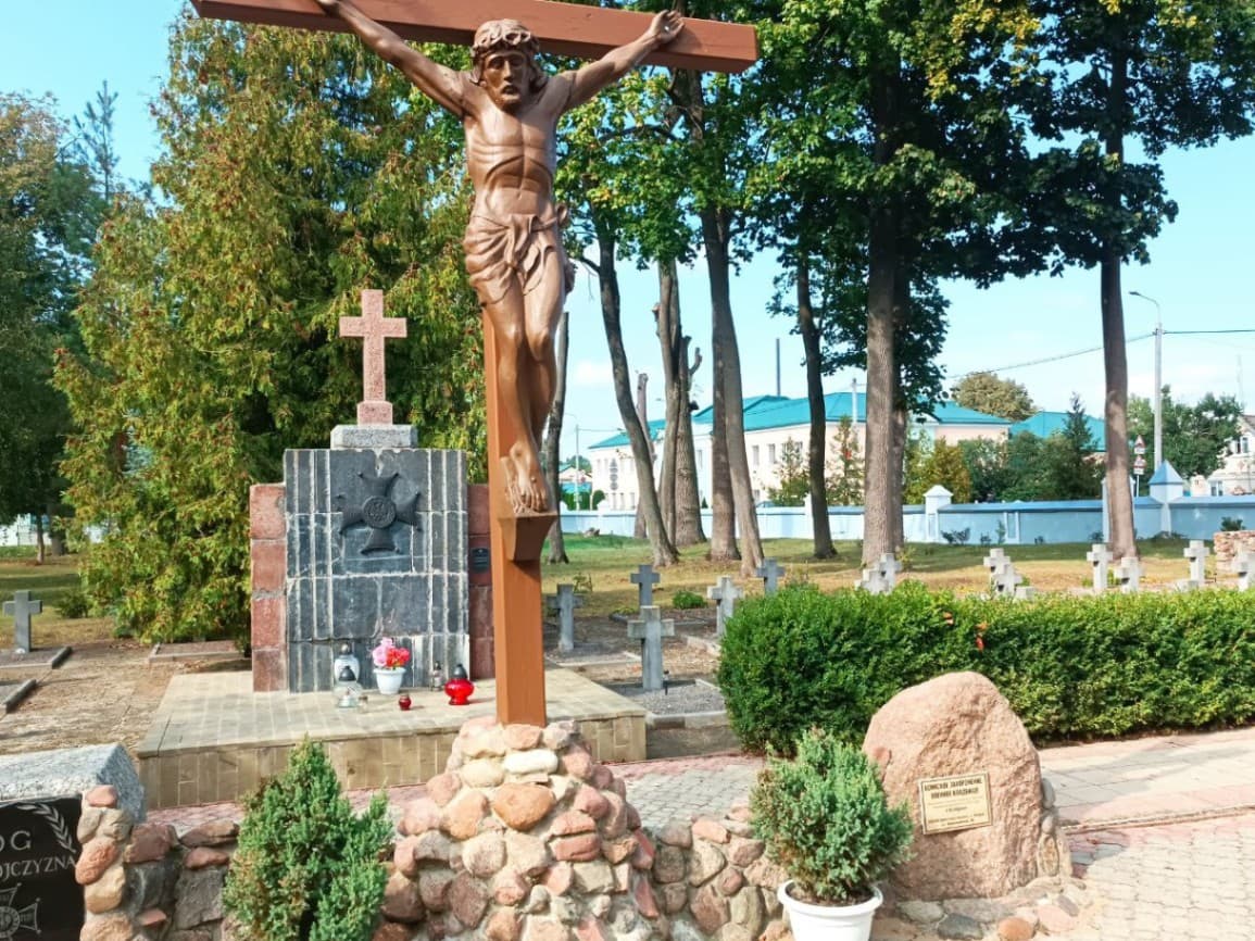
M 737 348 L 737 326 L 732 319 L 732 285 L 728 258 L 728 213 L 714 206 L 700 213 L 702 237 L 705 245 L 707 271 L 710 280 L 710 339 L 715 349 L 715 389 L 723 391 L 723 414 L 714 415 L 715 427 L 723 428 L 729 478 L 732 481 L 735 521 L 740 526 L 744 552 L 742 575 L 750 576 L 763 563 L 763 542 L 758 536 L 758 513 L 754 487 L 745 455 L 745 413 L 740 386 L 740 351 Z M 718 399 L 717 399 L 718 401 Z

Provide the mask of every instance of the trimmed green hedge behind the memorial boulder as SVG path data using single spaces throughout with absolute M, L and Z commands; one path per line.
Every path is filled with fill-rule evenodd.
M 979 639 L 979 640 L 978 640 Z M 1255 716 L 1255 592 L 958 598 L 809 586 L 744 602 L 719 686 L 749 749 L 811 726 L 860 742 L 906 686 L 976 670 L 1038 739 L 1191 729 Z

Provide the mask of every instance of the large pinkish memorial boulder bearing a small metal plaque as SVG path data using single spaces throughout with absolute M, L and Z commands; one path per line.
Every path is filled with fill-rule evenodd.
M 901 897 L 996 897 L 1039 875 L 1037 749 L 988 679 L 948 674 L 902 690 L 872 716 L 863 750 L 915 824 L 915 856 L 894 873 Z

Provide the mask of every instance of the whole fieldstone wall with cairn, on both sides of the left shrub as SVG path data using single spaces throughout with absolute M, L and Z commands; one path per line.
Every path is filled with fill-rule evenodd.
M 472 719 L 404 809 L 373 941 L 787 941 L 783 871 L 749 808 L 646 832 L 574 723 Z M 222 941 L 238 826 L 133 826 L 113 788 L 84 798 L 82 941 Z

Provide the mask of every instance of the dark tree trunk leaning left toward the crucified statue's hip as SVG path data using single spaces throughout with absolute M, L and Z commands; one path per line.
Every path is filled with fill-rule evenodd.
M 615 379 L 615 401 L 631 444 L 633 463 L 636 465 L 636 492 L 645 508 L 649 545 L 658 567 L 674 565 L 679 553 L 663 526 L 663 513 L 654 489 L 654 469 L 649 460 L 649 440 L 636 418 L 628 381 L 628 354 L 624 353 L 622 317 L 619 297 L 619 276 L 615 272 L 615 235 L 605 220 L 595 218 L 597 233 L 597 281 L 601 287 L 601 319 L 606 326 L 606 346 L 610 350 L 610 369 Z

